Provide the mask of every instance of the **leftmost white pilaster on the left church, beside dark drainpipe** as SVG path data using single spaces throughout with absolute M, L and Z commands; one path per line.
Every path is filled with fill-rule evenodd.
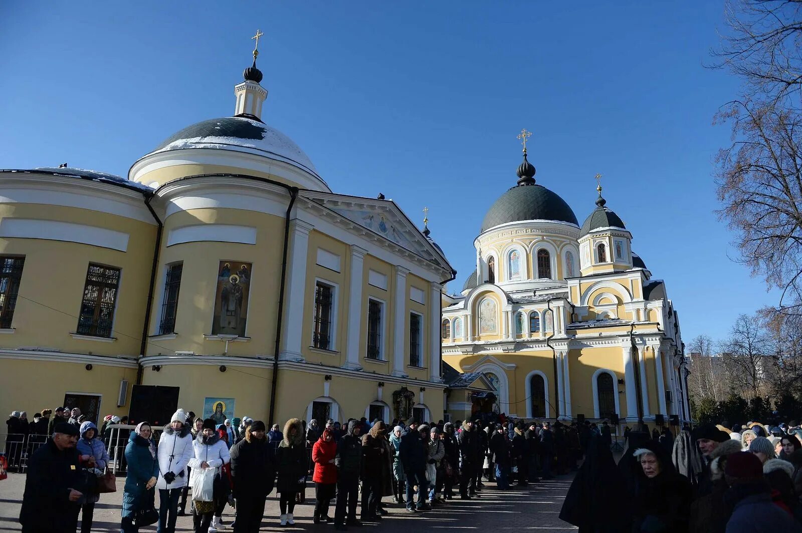
M 303 220 L 290 221 L 290 264 L 287 265 L 286 310 L 284 312 L 284 348 L 278 358 L 303 361 L 303 308 L 306 303 L 306 257 L 309 254 L 309 232 L 314 226 Z M 311 339 L 309 340 L 311 344 Z

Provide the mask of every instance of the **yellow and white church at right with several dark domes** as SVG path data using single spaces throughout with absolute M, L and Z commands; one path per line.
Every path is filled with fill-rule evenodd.
M 517 184 L 492 204 L 473 242 L 476 271 L 461 294 L 444 295 L 443 359 L 456 370 L 447 381 L 458 384 L 448 413 L 687 422 L 688 370 L 665 283 L 632 251 L 601 184 L 580 225 L 565 200 L 536 183 L 528 135 L 519 135 Z

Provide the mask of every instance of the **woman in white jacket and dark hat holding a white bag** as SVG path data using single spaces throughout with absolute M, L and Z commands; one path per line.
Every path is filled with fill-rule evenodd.
M 192 442 L 194 458 L 189 459 L 189 467 L 192 469 L 192 479 L 190 480 L 192 499 L 195 500 L 194 511 L 192 511 L 195 533 L 208 533 L 214 516 L 214 502 L 199 501 L 196 498 L 200 492 L 196 490 L 196 487 L 200 489 L 200 485 L 196 483 L 200 483 L 201 474 L 205 474 L 205 470 L 213 468 L 220 472 L 220 467 L 228 464 L 231 460 L 229 446 L 226 446 L 225 441 L 217 435 L 214 426 L 213 418 L 206 418 L 203 421 L 203 430 L 198 434 L 195 442 Z M 221 475 L 225 474 L 221 473 Z

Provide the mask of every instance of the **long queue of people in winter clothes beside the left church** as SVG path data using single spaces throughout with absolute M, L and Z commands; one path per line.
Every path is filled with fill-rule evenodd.
M 63 410 L 57 413 L 64 418 Z M 107 417 L 98 430 L 71 418 L 55 421 L 51 438 L 30 455 L 22 531 L 91 531 L 98 478 L 110 461 L 101 436 L 120 421 Z M 190 494 L 196 533 L 226 527 L 227 505 L 236 510 L 233 531 L 259 531 L 273 490 L 278 525 L 292 527 L 309 479 L 312 522 L 344 531 L 382 520 L 386 497 L 410 513 L 427 512 L 455 497 L 479 498 L 484 481 L 503 489 L 525 486 L 553 477 L 557 466 L 549 422 L 430 425 L 412 418 L 387 426 L 362 418 L 343 426 L 312 420 L 307 426 L 292 418 L 283 429 L 274 424 L 267 431 L 264 422 L 249 417 L 217 424 L 184 410 L 156 431 L 148 422 L 130 430 L 124 460 L 124 533 L 156 522 L 158 531 L 172 533 Z

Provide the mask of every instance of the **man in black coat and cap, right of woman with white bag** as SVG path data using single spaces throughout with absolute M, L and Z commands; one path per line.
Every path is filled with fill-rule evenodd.
M 231 478 L 237 499 L 236 533 L 258 533 L 265 515 L 265 500 L 273 491 L 276 467 L 265 429 L 265 422 L 257 420 L 245 429 L 245 437 L 231 446 Z

